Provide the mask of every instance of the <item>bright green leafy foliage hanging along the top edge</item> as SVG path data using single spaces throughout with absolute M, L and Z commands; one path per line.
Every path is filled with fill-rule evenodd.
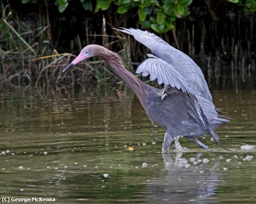
M 28 3 L 31 0 L 21 0 Z M 44 0 L 47 3 L 49 0 Z M 71 0 L 55 0 L 54 4 L 59 12 L 64 12 Z M 109 12 L 128 13 L 131 9 L 138 11 L 141 26 L 152 28 L 156 32 L 167 32 L 172 29 L 176 18 L 189 15 L 188 6 L 192 0 L 96 0 L 93 8 L 93 0 L 80 0 L 85 10 L 94 11 L 108 10 L 111 6 L 117 7 L 110 9 Z

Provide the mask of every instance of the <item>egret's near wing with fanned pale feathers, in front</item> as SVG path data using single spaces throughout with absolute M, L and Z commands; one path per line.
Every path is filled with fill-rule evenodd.
M 195 121 L 205 127 L 205 129 L 208 130 L 209 134 L 211 134 L 216 142 L 220 146 L 222 146 L 218 140 L 216 133 L 213 130 L 213 127 L 211 127 L 206 116 L 204 115 L 202 108 L 200 107 L 198 100 L 193 90 L 189 87 L 187 81 L 177 70 L 175 70 L 172 65 L 168 64 L 161 58 L 155 57 L 151 54 L 148 54 L 148 57 L 148 59 L 140 64 L 140 66 L 136 70 L 136 73 L 141 73 L 143 77 L 150 75 L 149 79 L 151 81 L 157 78 L 159 84 L 163 83 L 165 86 L 163 89 L 163 96 L 170 93 L 170 87 L 179 89 L 184 94 L 186 94 L 186 104 L 189 115 L 191 115 L 195 119 Z

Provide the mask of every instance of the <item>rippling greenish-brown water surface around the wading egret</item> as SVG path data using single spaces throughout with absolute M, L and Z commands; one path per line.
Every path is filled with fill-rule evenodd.
M 162 154 L 165 130 L 152 126 L 133 95 L 60 99 L 1 90 L 0 197 L 255 204 L 256 147 L 243 147 L 256 146 L 256 92 L 212 93 L 216 107 L 232 118 L 217 129 L 231 151 L 207 136 L 202 142 L 208 150 L 181 139 L 186 152 L 172 147 Z

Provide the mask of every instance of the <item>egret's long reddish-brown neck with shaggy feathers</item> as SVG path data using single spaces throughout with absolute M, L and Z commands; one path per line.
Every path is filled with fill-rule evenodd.
M 98 57 L 104 59 L 114 74 L 128 85 L 135 93 L 145 109 L 145 101 L 148 96 L 148 85 L 124 68 L 120 57 L 113 51 L 102 46 L 98 48 Z

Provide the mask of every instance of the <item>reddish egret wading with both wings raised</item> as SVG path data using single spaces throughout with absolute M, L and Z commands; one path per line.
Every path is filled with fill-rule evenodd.
M 142 73 L 143 77 L 150 75 L 151 81 L 157 78 L 159 84 L 164 84 L 163 89 L 156 89 L 142 82 L 124 68 L 117 54 L 100 45 L 84 47 L 63 72 L 84 59 L 101 57 L 115 75 L 133 90 L 148 117 L 166 128 L 163 150 L 168 149 L 173 140 L 179 144 L 179 137 L 208 148 L 197 139 L 206 134 L 210 134 L 223 147 L 214 128 L 228 120 L 218 118 L 202 70 L 197 64 L 153 33 L 132 28 L 116 30 L 133 35 L 154 53 L 148 54 L 148 58 L 140 64 L 136 73 Z

